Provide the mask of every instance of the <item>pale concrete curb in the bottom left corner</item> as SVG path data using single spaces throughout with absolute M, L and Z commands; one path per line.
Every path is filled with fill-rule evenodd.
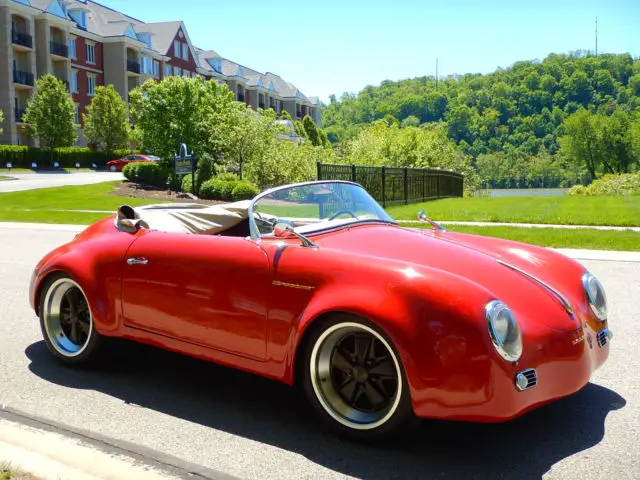
M 0 462 L 43 479 L 238 480 L 151 449 L 0 407 Z

